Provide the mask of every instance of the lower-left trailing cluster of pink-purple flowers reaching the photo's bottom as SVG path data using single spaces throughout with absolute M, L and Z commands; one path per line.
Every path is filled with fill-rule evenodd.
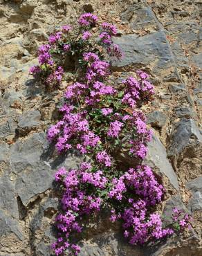
M 51 246 L 56 255 L 64 255 L 64 251 L 67 249 L 73 250 L 75 255 L 80 252 L 80 247 L 71 244 L 68 240 L 74 232 L 82 232 L 82 224 L 80 224 L 82 217 L 100 210 L 102 201 L 99 196 L 94 195 L 95 189 L 105 188 L 107 179 L 103 176 L 102 171 L 91 173 L 90 170 L 91 165 L 82 163 L 80 170 L 67 172 L 64 167 L 61 167 L 55 174 L 55 181 L 62 184 L 64 191 L 61 201 L 63 212 L 57 214 L 55 218 L 59 237 Z M 91 193 L 82 189 L 84 185 L 91 186 Z M 78 214 L 80 216 L 79 222 L 77 220 Z

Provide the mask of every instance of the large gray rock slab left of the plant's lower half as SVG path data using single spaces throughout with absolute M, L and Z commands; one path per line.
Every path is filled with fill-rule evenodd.
M 35 133 L 26 140 L 17 141 L 11 146 L 11 165 L 15 174 L 19 174 L 15 189 L 24 205 L 48 188 L 53 182 L 53 170 L 40 157 L 47 145 L 46 136 Z

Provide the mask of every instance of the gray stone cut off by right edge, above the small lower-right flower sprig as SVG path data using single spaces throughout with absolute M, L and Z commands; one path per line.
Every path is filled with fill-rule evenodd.
M 192 197 L 188 203 L 190 210 L 202 210 L 202 176 L 188 182 L 186 187 L 192 191 Z

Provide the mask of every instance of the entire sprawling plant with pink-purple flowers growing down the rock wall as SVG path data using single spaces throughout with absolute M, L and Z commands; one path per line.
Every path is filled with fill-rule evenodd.
M 58 238 L 52 244 L 56 255 L 77 255 L 82 220 L 105 207 L 111 209 L 111 221 L 122 221 L 130 244 L 162 239 L 175 230 L 163 228 L 155 211 L 163 199 L 163 185 L 142 164 L 152 139 L 140 110 L 154 95 L 149 75 L 136 71 L 135 77 L 122 82 L 111 79 L 109 60 L 122 58 L 112 41 L 116 27 L 104 22 L 98 28 L 98 17 L 91 13 L 81 15 L 79 24 L 73 32 L 66 25 L 50 35 L 48 44 L 39 48 L 40 65 L 30 68 L 46 91 L 57 89 L 69 68 L 75 73 L 59 109 L 61 118 L 47 136 L 58 153 L 74 149 L 88 156 L 77 170 L 61 167 L 55 174 L 62 188 L 62 209 L 55 218 Z M 177 211 L 175 227 L 183 230 L 190 217 L 179 221 Z

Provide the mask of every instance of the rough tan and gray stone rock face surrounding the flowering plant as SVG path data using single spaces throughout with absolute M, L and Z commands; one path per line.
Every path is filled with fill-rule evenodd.
M 103 3 L 102 3 L 103 2 Z M 200 1 L 181 0 L 0 0 L 0 255 L 50 256 L 59 194 L 53 175 L 59 166 L 75 168 L 81 159 L 57 156 L 46 140 L 62 91 L 44 95 L 28 75 L 48 34 L 75 24 L 84 11 L 116 23 L 125 58 L 113 62 L 121 76 L 142 68 L 155 85 L 154 102 L 143 110 L 152 126 L 145 163 L 167 193 L 162 212 L 169 223 L 173 207 L 191 212 L 190 238 L 164 244 L 129 246 L 119 224 L 103 216 L 89 226 L 82 255 L 201 255 L 202 210 L 202 30 Z M 116 22 L 115 22 L 116 21 Z M 195 234 L 195 235 L 193 235 Z M 197 235 L 196 235 L 197 234 Z M 197 239 L 196 239 L 197 237 Z

